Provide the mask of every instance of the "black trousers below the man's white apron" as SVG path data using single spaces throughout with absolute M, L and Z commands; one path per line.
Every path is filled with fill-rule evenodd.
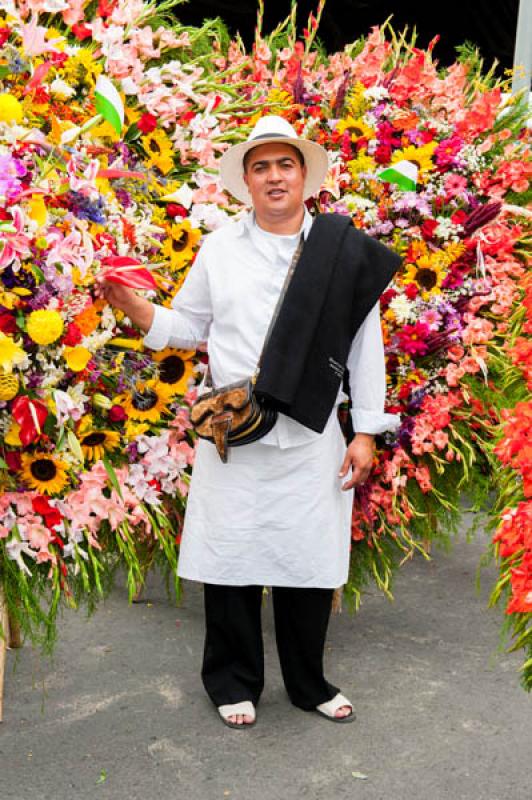
M 262 586 L 204 584 L 205 650 L 201 677 L 216 706 L 251 700 L 264 688 Z M 273 613 L 281 672 L 292 703 L 310 711 L 338 693 L 323 675 L 332 589 L 275 586 Z

